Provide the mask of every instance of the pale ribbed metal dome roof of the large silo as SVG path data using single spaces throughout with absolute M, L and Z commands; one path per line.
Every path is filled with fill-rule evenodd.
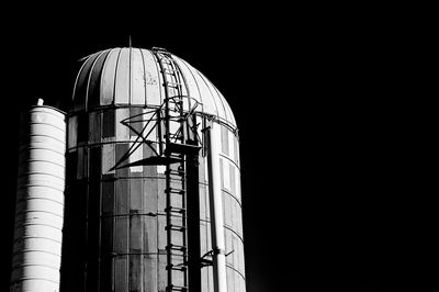
M 170 56 L 182 75 L 183 94 L 201 103 L 196 111 L 236 127 L 232 110 L 215 86 L 183 59 Z M 92 54 L 85 58 L 75 82 L 74 111 L 111 104 L 159 106 L 165 98 L 162 75 L 149 49 L 117 47 Z

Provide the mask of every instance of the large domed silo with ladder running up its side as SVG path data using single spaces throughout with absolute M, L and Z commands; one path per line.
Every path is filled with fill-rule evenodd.
M 238 132 L 206 77 L 161 48 L 98 52 L 67 115 L 63 292 L 245 291 Z

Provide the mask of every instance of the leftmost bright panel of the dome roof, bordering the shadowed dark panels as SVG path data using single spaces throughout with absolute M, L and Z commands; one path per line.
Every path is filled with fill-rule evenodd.
M 112 104 L 114 101 L 114 83 L 116 74 L 116 64 L 119 59 L 120 48 L 114 48 L 106 57 L 101 76 L 101 105 Z

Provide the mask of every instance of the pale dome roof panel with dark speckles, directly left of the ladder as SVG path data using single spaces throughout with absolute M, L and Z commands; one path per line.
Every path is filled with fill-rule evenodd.
M 162 98 L 160 97 L 160 80 L 156 60 L 149 50 L 140 49 L 140 53 L 145 66 L 146 104 L 160 105 Z

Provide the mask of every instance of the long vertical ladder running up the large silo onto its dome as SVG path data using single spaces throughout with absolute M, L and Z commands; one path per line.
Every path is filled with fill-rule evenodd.
M 155 49 L 164 77 L 166 165 L 167 292 L 188 291 L 187 190 L 184 169 L 184 109 L 182 85 L 170 54 Z M 171 124 L 173 123 L 173 124 Z M 177 125 L 177 128 L 171 128 Z M 180 145 L 180 147 L 179 147 Z

